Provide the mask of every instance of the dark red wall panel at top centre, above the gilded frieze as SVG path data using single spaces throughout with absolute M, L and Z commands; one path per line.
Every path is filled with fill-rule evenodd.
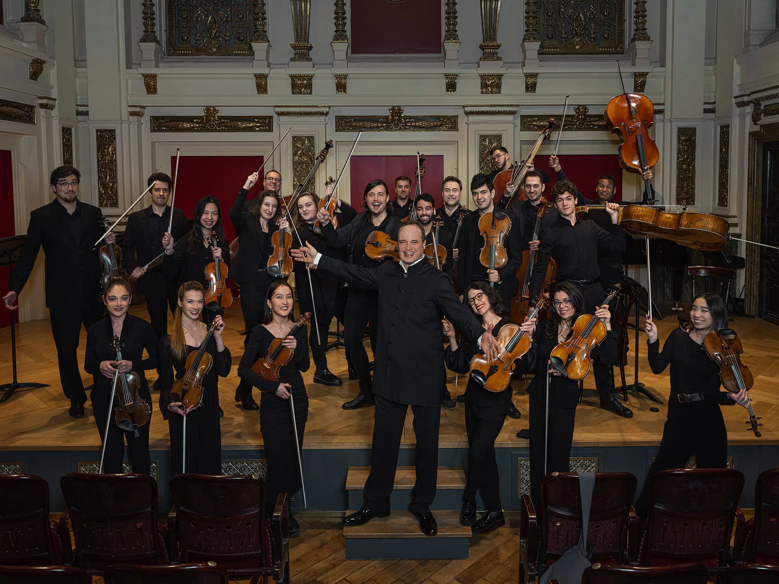
M 441 0 L 351 2 L 352 55 L 440 55 Z

